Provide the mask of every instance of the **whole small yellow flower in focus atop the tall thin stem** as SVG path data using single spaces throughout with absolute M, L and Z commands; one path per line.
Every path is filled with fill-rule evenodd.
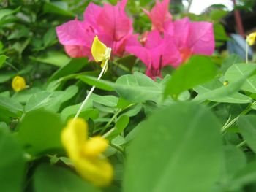
M 111 48 L 107 47 L 104 43 L 99 41 L 97 36 L 94 37 L 94 42 L 91 45 L 91 55 L 96 62 L 102 62 L 101 67 L 106 66 L 105 72 L 108 69 L 108 60 L 111 56 Z

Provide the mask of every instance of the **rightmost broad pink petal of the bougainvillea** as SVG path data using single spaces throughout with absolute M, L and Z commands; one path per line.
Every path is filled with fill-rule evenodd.
M 187 45 L 194 54 L 211 55 L 214 53 L 215 42 L 212 23 L 190 23 Z

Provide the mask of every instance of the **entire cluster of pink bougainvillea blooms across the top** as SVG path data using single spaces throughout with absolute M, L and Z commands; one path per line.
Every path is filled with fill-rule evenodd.
M 71 20 L 56 28 L 59 41 L 71 57 L 89 57 L 94 37 L 112 49 L 112 55 L 131 53 L 146 65 L 149 77 L 161 77 L 163 66 L 179 66 L 191 55 L 214 53 L 213 25 L 208 22 L 191 22 L 189 18 L 173 21 L 168 11 L 170 0 L 157 0 L 146 15 L 151 19 L 151 31 L 146 31 L 138 41 L 133 34 L 132 20 L 124 11 L 127 0 L 116 6 L 99 7 L 90 3 L 83 21 Z

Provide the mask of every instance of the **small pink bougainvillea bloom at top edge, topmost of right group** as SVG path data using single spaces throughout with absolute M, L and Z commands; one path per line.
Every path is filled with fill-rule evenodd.
M 169 4 L 170 0 L 162 0 L 162 2 L 157 0 L 155 6 L 151 9 L 151 12 L 143 9 L 151 19 L 152 30 L 157 29 L 158 31 L 163 32 L 165 22 L 172 20 L 172 15 L 170 15 L 168 10 Z

